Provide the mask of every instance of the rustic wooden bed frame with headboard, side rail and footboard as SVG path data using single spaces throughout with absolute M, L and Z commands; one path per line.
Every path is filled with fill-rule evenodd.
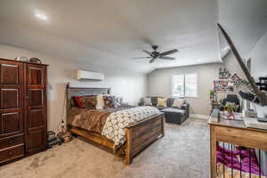
M 73 96 L 92 95 L 92 94 L 109 94 L 110 88 L 77 88 L 67 87 L 67 123 L 69 123 L 69 109 L 73 107 Z M 128 125 L 125 128 L 125 144 L 116 147 L 114 142 L 107 137 L 86 131 L 82 128 L 77 128 L 68 124 L 68 130 L 72 134 L 77 134 L 84 137 L 90 142 L 97 143 L 97 146 L 111 150 L 118 157 L 125 158 L 125 164 L 132 163 L 134 156 L 144 150 L 150 143 L 161 138 L 165 134 L 165 119 L 164 115 L 159 114 L 143 119 L 140 122 Z

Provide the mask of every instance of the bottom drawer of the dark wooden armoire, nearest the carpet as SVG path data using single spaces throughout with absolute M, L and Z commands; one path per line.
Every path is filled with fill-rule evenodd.
M 0 150 L 0 163 L 24 156 L 24 144 Z

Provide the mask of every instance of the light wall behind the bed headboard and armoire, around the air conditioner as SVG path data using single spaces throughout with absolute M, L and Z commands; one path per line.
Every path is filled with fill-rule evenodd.
M 14 59 L 18 56 L 39 57 L 48 67 L 48 129 L 57 130 L 65 106 L 64 89 L 67 82 L 71 86 L 111 87 L 111 92 L 122 96 L 124 101 L 136 104 L 147 93 L 147 78 L 144 74 L 125 69 L 107 68 L 91 65 L 77 59 L 60 59 L 8 45 L 0 45 L 0 57 Z M 105 74 L 101 82 L 79 82 L 76 80 L 77 69 L 85 69 Z

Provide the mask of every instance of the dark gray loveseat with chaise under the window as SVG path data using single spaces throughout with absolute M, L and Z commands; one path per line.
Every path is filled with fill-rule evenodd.
M 167 107 L 157 107 L 158 103 L 158 96 L 151 96 L 151 102 L 152 106 L 158 108 L 160 111 L 164 112 L 166 122 L 169 123 L 176 123 L 178 125 L 181 125 L 185 119 L 187 119 L 190 116 L 190 104 L 185 102 L 182 105 L 182 108 L 174 108 L 173 103 L 176 98 L 168 98 L 166 101 Z M 143 105 L 143 102 L 141 101 L 139 103 L 140 106 Z

